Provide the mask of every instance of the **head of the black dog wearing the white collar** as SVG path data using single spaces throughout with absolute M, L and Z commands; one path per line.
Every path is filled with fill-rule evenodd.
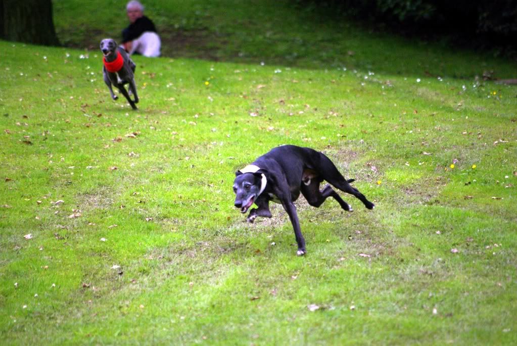
M 240 208 L 241 213 L 246 213 L 260 195 L 264 185 L 264 171 L 257 170 L 254 173 L 235 172 L 233 192 L 235 193 L 235 207 Z

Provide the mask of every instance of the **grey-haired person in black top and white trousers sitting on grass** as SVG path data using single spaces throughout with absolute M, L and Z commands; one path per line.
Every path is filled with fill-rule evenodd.
M 129 26 L 122 30 L 122 45 L 129 54 L 160 56 L 161 41 L 153 21 L 144 15 L 144 6 L 138 1 L 130 1 L 126 6 Z

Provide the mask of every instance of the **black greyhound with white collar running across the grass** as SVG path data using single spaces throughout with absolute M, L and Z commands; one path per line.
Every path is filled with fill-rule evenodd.
M 366 208 L 374 207 L 357 188 L 349 184 L 354 179 L 343 178 L 325 154 L 311 148 L 286 145 L 272 149 L 256 159 L 253 164 L 235 172 L 235 176 L 235 207 L 240 208 L 241 213 L 246 213 L 253 203 L 258 207 L 250 211 L 248 222 L 252 223 L 257 216 L 271 217 L 270 200 L 282 204 L 293 224 L 298 256 L 307 252 L 293 203 L 298 199 L 300 191 L 309 204 L 316 208 L 320 207 L 327 197 L 333 197 L 341 208 L 352 211 L 348 203 L 341 199 L 330 185 L 359 198 Z M 320 190 L 323 180 L 330 185 L 327 184 Z

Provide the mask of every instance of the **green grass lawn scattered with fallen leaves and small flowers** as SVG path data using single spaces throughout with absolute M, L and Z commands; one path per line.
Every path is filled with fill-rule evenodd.
M 517 88 L 482 77 L 514 61 L 286 1 L 145 5 L 138 111 L 102 81 L 117 2 L 54 1 L 66 48 L 0 41 L 2 344 L 517 343 Z M 305 257 L 281 207 L 233 206 L 282 144 L 376 204 L 300 198 Z

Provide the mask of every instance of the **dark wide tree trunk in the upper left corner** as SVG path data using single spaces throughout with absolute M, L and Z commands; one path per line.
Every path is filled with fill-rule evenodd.
M 4 40 L 59 45 L 51 0 L 0 0 L 0 22 Z

